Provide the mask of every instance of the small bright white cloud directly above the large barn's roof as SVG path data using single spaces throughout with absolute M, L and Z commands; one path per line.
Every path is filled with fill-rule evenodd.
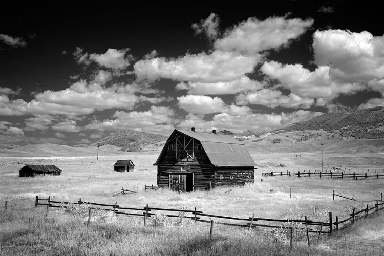
M 177 97 L 177 100 L 179 108 L 194 114 L 229 113 L 232 115 L 245 115 L 251 112 L 251 109 L 247 106 L 227 105 L 219 97 L 186 95 Z

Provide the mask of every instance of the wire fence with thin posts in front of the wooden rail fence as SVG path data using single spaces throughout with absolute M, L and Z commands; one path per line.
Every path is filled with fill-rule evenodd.
M 49 209 L 49 210 L 47 210 Z M 66 218 L 69 216 L 65 208 L 53 208 L 45 205 L 36 207 L 32 204 L 23 204 L 15 202 L 7 202 L 6 211 L 10 212 L 34 212 L 46 216 L 54 216 L 58 218 Z M 301 228 L 268 228 L 261 226 L 246 227 L 241 224 L 220 222 L 218 220 L 195 220 L 193 218 L 167 218 L 163 222 L 156 222 L 152 218 L 145 216 L 134 216 L 117 214 L 113 211 L 105 211 L 105 215 L 100 216 L 92 214 L 91 216 L 82 217 L 84 222 L 92 225 L 93 223 L 122 223 L 130 226 L 152 227 L 157 226 L 166 229 L 178 231 L 206 234 L 207 236 L 225 236 L 225 237 L 242 237 L 247 236 L 255 241 L 260 239 L 270 240 L 276 243 L 289 244 L 294 246 L 312 246 L 317 249 L 329 252 L 342 252 L 345 255 L 384 255 L 384 241 L 366 240 L 351 237 L 337 236 L 337 232 L 333 235 L 320 232 L 306 232 L 303 225 Z M 153 215 L 154 216 L 154 215 Z

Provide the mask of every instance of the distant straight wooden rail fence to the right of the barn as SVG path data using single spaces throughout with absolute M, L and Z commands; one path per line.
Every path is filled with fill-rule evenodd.
M 384 174 L 360 174 L 360 173 L 323 173 L 323 172 L 300 172 L 300 171 L 280 171 L 280 172 L 270 172 L 270 173 L 262 173 L 262 176 L 293 176 L 293 177 L 298 177 L 298 178 L 330 178 L 330 179 L 383 179 Z

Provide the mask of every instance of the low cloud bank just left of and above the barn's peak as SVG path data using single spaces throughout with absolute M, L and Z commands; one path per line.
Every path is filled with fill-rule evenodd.
M 167 124 L 173 123 L 174 111 L 164 106 L 151 106 L 148 111 L 116 111 L 114 120 L 93 120 L 84 128 L 88 130 L 120 130 L 135 129 L 138 131 L 161 131 L 168 129 Z

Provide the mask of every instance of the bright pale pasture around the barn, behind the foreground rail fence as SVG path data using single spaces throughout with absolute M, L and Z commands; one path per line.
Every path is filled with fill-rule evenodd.
M 245 187 L 218 187 L 212 191 L 195 191 L 194 193 L 175 193 L 168 189 L 145 191 L 145 185 L 156 185 L 157 169 L 152 164 L 159 151 L 152 152 L 120 152 L 113 148 L 100 147 L 99 160 L 96 160 L 95 148 L 85 156 L 35 156 L 35 157 L 2 157 L 0 158 L 0 200 L 24 201 L 34 204 L 35 196 L 55 201 L 82 201 L 113 204 L 120 206 L 179 208 L 197 207 L 206 214 L 232 217 L 258 218 L 293 218 L 310 216 L 315 207 L 324 212 L 332 211 L 339 218 L 347 214 L 352 206 L 367 205 L 369 201 L 380 200 L 384 192 L 383 180 L 333 180 L 309 179 L 293 177 L 262 177 L 262 172 L 280 172 L 280 170 L 318 169 L 317 153 L 301 154 L 259 154 L 251 152 L 255 162 L 259 164 L 255 170 L 255 182 Z M 55 154 L 52 154 L 55 155 Z M 93 155 L 93 156 L 92 156 Z M 114 172 L 113 164 L 118 159 L 131 159 L 134 172 Z M 352 162 L 357 159 L 356 162 Z M 323 161 L 348 162 L 355 168 L 382 168 L 384 158 L 325 155 Z M 38 176 L 20 178 L 18 170 L 24 164 L 54 164 L 62 170 L 60 176 Z M 278 167 L 282 163 L 287 167 Z M 333 163 L 332 163 L 333 164 Z M 121 188 L 136 191 L 125 195 L 117 195 Z M 354 198 L 351 201 L 335 194 Z M 290 194 L 291 192 L 291 194 Z M 381 238 L 384 234 L 380 234 Z

